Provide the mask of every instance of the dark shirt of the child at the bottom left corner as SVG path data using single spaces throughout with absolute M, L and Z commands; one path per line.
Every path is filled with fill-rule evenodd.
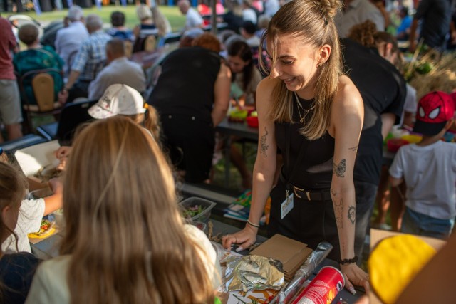
M 38 262 L 38 258 L 28 252 L 6 254 L 0 259 L 3 303 L 25 302 Z

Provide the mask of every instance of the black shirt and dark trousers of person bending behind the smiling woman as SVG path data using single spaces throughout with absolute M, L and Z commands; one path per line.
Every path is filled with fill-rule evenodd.
M 383 159 L 380 115 L 393 113 L 399 122 L 405 103 L 405 80 L 376 49 L 350 39 L 341 40 L 344 70 L 358 88 L 364 103 L 364 123 L 353 179 L 378 184 Z

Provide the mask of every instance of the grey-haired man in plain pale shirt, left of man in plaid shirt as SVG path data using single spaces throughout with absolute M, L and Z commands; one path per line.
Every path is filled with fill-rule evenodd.
M 68 27 L 61 28 L 56 34 L 56 52 L 65 62 L 63 72 L 68 76 L 73 58 L 78 53 L 79 48 L 86 38 L 88 31 L 84 25 L 83 9 L 77 5 L 71 6 L 68 9 Z

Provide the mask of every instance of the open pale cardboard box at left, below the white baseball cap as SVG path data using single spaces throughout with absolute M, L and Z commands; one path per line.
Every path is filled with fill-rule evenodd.
M 22 172 L 28 177 L 28 182 L 33 189 L 40 189 L 41 179 L 33 175 L 43 167 L 56 167 L 59 163 L 54 152 L 60 147 L 57 140 L 43 142 L 42 144 L 17 150 L 14 157 L 21 167 Z M 38 188 L 37 188 L 38 187 Z M 42 187 L 41 187 L 42 188 Z M 31 189 L 31 190 L 33 190 Z

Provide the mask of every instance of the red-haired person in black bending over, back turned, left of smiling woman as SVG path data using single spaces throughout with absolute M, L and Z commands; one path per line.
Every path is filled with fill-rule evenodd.
M 217 37 L 204 33 L 193 45 L 165 58 L 147 103 L 160 114 L 172 163 L 185 181 L 203 182 L 212 166 L 214 127 L 227 115 L 231 73 L 218 55 Z

